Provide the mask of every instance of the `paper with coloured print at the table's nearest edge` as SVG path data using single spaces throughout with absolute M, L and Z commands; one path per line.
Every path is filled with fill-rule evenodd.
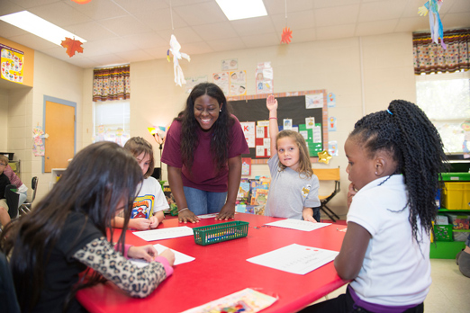
M 276 302 L 276 298 L 252 289 L 237 291 L 218 300 L 213 300 L 202 306 L 187 309 L 183 313 L 211 313 L 226 311 L 227 308 L 233 308 L 241 305 L 244 312 L 259 312 Z M 231 310 L 230 310 L 231 311 Z M 235 309 L 233 309 L 235 312 Z

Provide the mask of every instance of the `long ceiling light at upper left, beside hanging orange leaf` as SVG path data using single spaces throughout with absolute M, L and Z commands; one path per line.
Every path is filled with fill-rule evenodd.
M 66 37 L 80 40 L 82 43 L 86 42 L 83 38 L 48 22 L 41 17 L 29 13 L 28 11 L 22 11 L 12 13 L 4 16 L 0 16 L 0 20 L 8 22 L 16 27 L 21 28 L 24 31 L 29 31 L 32 34 L 39 36 L 45 40 L 49 40 L 52 43 L 60 46 L 62 40 Z

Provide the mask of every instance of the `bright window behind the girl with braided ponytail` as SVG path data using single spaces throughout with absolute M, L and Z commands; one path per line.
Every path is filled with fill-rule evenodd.
M 468 154 L 470 72 L 416 76 L 416 102 L 438 129 L 447 154 Z

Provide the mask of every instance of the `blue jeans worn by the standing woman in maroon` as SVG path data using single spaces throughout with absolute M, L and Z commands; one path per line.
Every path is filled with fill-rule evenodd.
M 218 213 L 227 199 L 227 192 L 204 192 L 191 187 L 183 187 L 183 190 L 187 207 L 195 215 Z

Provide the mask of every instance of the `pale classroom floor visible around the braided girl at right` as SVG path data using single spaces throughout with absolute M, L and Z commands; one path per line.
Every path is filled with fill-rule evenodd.
M 323 216 L 321 217 L 323 218 Z M 425 313 L 470 312 L 470 278 L 458 270 L 456 260 L 431 259 L 431 278 L 428 297 L 424 300 Z M 328 299 L 346 292 L 346 286 L 333 291 Z M 324 298 L 319 300 L 325 300 Z

